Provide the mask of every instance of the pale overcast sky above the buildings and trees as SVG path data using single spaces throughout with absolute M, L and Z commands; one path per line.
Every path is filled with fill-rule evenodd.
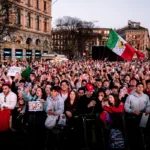
M 150 0 L 57 0 L 52 5 L 53 25 L 63 16 L 95 21 L 96 26 L 108 28 L 121 28 L 132 20 L 150 30 Z

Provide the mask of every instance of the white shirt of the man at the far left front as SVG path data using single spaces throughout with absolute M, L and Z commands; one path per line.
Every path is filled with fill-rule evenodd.
M 17 104 L 17 95 L 13 92 L 9 92 L 6 96 L 5 102 L 5 95 L 4 93 L 0 93 L 0 107 L 8 107 L 8 109 L 14 109 Z

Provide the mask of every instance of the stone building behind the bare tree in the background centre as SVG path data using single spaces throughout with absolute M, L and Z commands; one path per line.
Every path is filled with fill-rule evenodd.
M 85 29 L 82 29 L 82 30 L 85 30 Z M 84 54 L 86 53 L 86 56 L 90 57 L 92 55 L 93 46 L 105 46 L 106 45 L 106 41 L 109 36 L 110 28 L 91 28 L 88 30 L 91 30 L 90 33 L 92 34 L 92 38 L 89 38 L 86 42 L 83 42 L 84 39 L 80 37 L 78 40 L 78 50 L 80 52 L 84 52 Z M 68 53 L 65 52 L 66 43 L 67 43 L 65 37 L 66 37 L 65 32 L 61 32 L 57 29 L 52 29 L 53 50 L 58 53 L 67 55 Z M 79 56 L 80 54 L 77 53 L 75 55 Z

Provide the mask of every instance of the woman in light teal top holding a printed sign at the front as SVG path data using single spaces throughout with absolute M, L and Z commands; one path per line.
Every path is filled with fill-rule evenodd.
M 27 123 L 29 129 L 29 145 L 32 149 L 43 149 L 45 138 L 46 102 L 42 88 L 37 88 L 35 95 L 24 95 L 27 105 Z M 38 143 L 38 144 L 37 144 Z

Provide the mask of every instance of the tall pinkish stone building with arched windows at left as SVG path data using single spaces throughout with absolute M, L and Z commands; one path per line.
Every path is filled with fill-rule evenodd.
M 10 1 L 7 17 L 16 30 L 4 37 L 1 60 L 40 59 L 42 53 L 51 51 L 51 0 Z

